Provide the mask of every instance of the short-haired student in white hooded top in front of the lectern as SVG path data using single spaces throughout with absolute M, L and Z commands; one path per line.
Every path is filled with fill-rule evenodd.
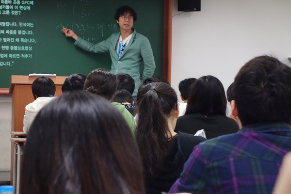
M 39 77 L 32 82 L 34 101 L 25 106 L 23 131 L 28 132 L 36 114 L 52 99 L 56 92 L 54 82 L 48 77 Z

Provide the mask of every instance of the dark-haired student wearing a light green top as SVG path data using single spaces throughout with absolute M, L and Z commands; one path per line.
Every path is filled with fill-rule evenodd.
M 108 101 L 112 101 L 117 91 L 116 76 L 106 69 L 95 69 L 87 76 L 83 90 L 104 97 Z M 131 113 L 129 113 L 124 105 L 118 102 L 112 102 L 111 104 L 122 114 L 127 121 L 130 130 L 133 132 L 135 125 Z

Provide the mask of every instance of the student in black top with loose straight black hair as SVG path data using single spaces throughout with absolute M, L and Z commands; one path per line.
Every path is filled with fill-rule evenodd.
M 222 83 L 213 76 L 203 76 L 191 88 L 184 116 L 175 131 L 195 134 L 204 129 L 206 138 L 236 133 L 238 124 L 226 116 L 226 95 Z

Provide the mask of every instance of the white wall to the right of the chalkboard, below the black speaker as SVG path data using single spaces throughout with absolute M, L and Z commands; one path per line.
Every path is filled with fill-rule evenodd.
M 201 12 L 177 10 L 173 0 L 171 83 L 178 94 L 179 81 L 204 75 L 226 90 L 258 55 L 291 65 L 291 0 L 201 0 Z

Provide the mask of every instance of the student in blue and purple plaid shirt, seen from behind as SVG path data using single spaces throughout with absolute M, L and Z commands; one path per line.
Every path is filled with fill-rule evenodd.
M 196 146 L 170 194 L 272 193 L 291 150 L 291 67 L 271 56 L 253 58 L 236 75 L 233 97 L 241 129 Z

